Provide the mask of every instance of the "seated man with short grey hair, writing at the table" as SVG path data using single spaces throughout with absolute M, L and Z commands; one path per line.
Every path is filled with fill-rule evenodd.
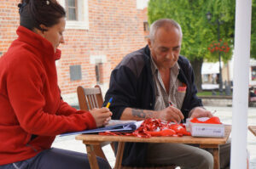
M 113 119 L 156 118 L 180 122 L 188 117 L 212 117 L 196 97 L 194 72 L 189 60 L 179 55 L 182 29 L 174 20 L 156 20 L 148 45 L 125 56 L 112 71 L 105 103 L 113 97 Z M 172 106 L 170 106 L 170 103 Z M 230 144 L 220 149 L 220 163 L 230 163 Z M 188 144 L 125 144 L 123 166 L 182 166 L 213 168 L 213 156 Z

